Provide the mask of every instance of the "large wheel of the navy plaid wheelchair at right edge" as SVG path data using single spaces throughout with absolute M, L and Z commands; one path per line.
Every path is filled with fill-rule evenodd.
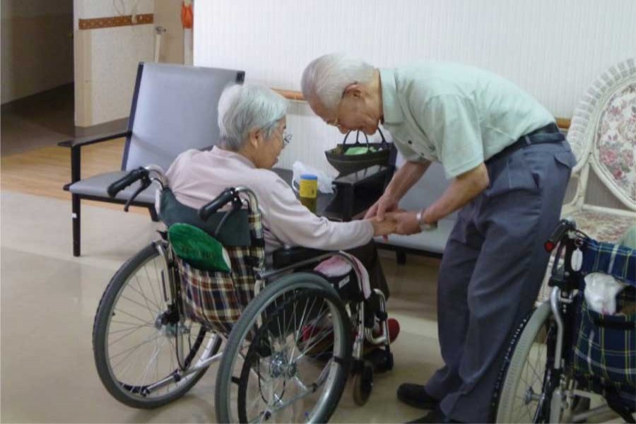
M 556 328 L 549 302 L 543 302 L 513 338 L 498 385 L 495 423 L 547 423 L 558 384 L 552 375 Z

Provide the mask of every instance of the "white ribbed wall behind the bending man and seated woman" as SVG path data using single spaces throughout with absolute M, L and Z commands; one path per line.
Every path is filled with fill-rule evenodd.
M 380 67 L 442 59 L 495 71 L 558 117 L 636 53 L 632 0 L 200 0 L 194 13 L 195 65 L 242 69 L 247 81 L 299 90 L 305 65 L 334 51 Z M 302 103 L 288 127 L 281 165 L 329 169 L 323 151 L 339 133 Z

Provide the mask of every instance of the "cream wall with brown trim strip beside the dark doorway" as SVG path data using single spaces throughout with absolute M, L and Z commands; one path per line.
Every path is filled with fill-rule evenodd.
M 153 0 L 74 0 L 75 122 L 91 126 L 127 117 L 137 65 L 152 61 L 154 25 L 78 29 L 79 19 L 153 13 Z

